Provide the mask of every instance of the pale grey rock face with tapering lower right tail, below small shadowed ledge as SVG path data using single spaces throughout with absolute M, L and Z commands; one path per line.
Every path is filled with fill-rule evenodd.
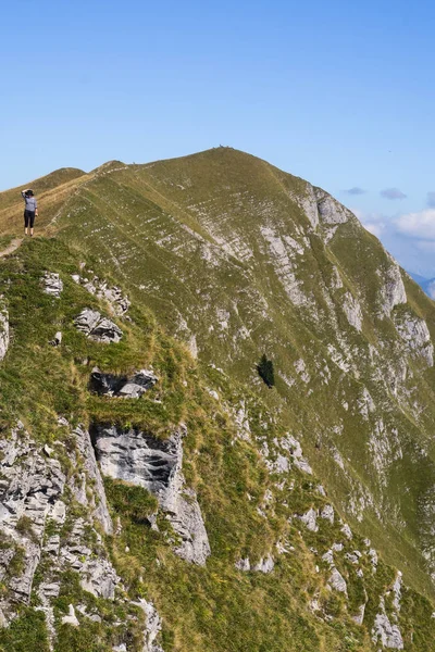
M 186 561 L 204 565 L 210 555 L 209 539 L 196 493 L 185 487 L 182 473 L 185 434 L 181 428 L 162 440 L 115 426 L 95 426 L 91 431 L 102 474 L 154 493 L 181 537 L 175 552 Z

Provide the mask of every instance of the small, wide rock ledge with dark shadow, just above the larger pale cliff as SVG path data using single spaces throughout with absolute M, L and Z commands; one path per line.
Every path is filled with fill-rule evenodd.
M 104 374 L 95 367 L 90 374 L 89 388 L 100 396 L 138 399 L 158 381 L 150 369 L 140 369 L 132 376 Z

